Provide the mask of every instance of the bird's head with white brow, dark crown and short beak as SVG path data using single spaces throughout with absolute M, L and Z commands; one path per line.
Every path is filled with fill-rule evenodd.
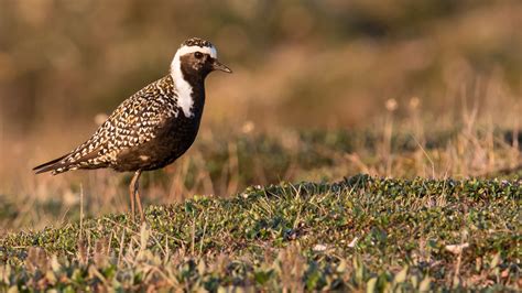
M 176 70 L 203 78 L 214 70 L 232 73 L 217 59 L 216 47 L 210 42 L 197 37 L 186 40 L 177 50 L 171 64 L 171 72 Z

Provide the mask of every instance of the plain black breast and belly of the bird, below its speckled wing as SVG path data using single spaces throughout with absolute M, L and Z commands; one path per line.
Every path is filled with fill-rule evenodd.
M 177 118 L 165 121 L 154 139 L 122 150 L 117 156 L 117 164 L 111 167 L 119 172 L 151 171 L 171 164 L 193 144 L 200 116 L 188 119 L 181 112 Z

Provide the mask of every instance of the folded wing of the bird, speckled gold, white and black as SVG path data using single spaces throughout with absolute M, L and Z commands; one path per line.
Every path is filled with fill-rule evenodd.
M 46 171 L 56 174 L 75 169 L 108 166 L 116 163 L 117 155 L 122 150 L 155 138 L 165 119 L 178 115 L 177 97 L 174 90 L 165 88 L 163 79 L 165 78 L 150 84 L 124 100 L 89 140 L 55 162 L 55 167 Z

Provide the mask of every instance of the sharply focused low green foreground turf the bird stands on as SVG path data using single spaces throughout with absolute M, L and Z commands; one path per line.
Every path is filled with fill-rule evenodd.
M 4 289 L 520 289 L 518 180 L 248 187 L 0 240 Z

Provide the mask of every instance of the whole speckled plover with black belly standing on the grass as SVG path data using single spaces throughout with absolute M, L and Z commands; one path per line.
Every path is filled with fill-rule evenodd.
M 137 202 L 144 221 L 140 176 L 173 163 L 191 148 L 202 121 L 205 78 L 214 70 L 232 73 L 217 59 L 217 50 L 209 41 L 184 41 L 167 75 L 123 100 L 90 139 L 33 171 L 53 175 L 95 169 L 133 172 L 129 184 L 132 219 Z

